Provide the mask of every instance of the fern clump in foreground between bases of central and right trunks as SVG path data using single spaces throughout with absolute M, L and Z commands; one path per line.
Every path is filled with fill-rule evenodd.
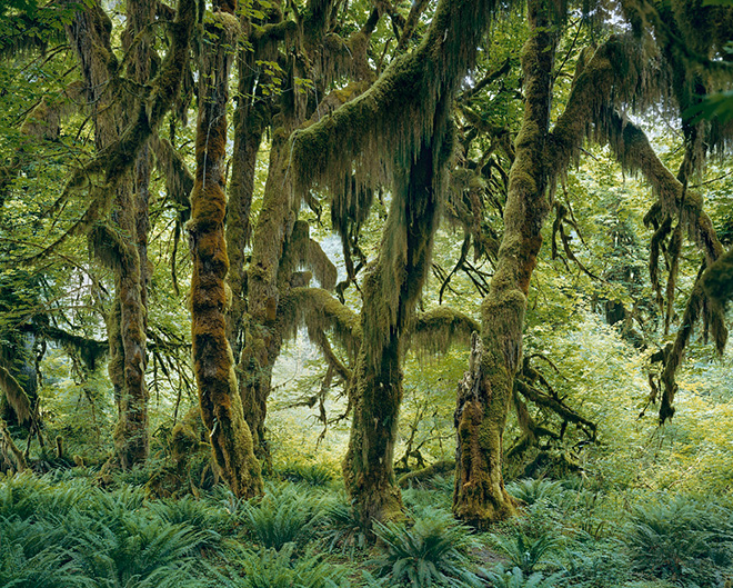
M 471 530 L 441 510 L 425 510 L 413 526 L 404 522 L 374 524 L 383 546 L 375 559 L 376 575 L 390 584 L 412 588 L 430 586 L 482 586 L 469 568 L 470 548 L 476 546 Z

